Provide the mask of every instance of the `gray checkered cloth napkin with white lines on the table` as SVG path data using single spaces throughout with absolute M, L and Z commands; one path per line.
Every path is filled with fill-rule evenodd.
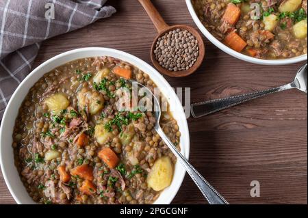
M 8 100 L 31 70 L 40 42 L 116 10 L 107 0 L 0 1 L 0 122 Z

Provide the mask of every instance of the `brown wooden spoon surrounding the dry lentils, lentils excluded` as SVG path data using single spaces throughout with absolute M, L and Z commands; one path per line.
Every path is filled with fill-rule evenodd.
M 201 66 L 204 56 L 205 56 L 205 46 L 203 43 L 203 38 L 198 33 L 198 31 L 196 31 L 196 29 L 194 29 L 193 27 L 190 27 L 187 25 L 168 26 L 150 0 L 138 0 L 138 1 L 142 4 L 144 10 L 146 10 L 146 13 L 151 18 L 158 32 L 158 36 L 156 36 L 152 44 L 152 47 L 151 47 L 151 60 L 155 68 L 159 70 L 159 72 L 162 72 L 163 74 L 166 74 L 169 77 L 186 77 L 192 74 L 193 72 L 195 72 L 198 69 L 198 67 Z M 198 40 L 199 55 L 194 65 L 188 70 L 170 71 L 160 66 L 157 60 L 155 59 L 154 50 L 155 50 L 155 45 L 156 45 L 158 38 L 164 36 L 164 34 L 167 33 L 168 31 L 173 31 L 175 29 L 187 30 L 190 33 L 192 33 L 192 35 L 194 35 L 196 40 Z

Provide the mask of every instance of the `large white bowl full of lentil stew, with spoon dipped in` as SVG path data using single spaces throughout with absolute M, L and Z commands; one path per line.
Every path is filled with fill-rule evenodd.
M 3 115 L 1 170 L 18 204 L 170 204 L 185 169 L 151 112 L 116 111 L 118 90 L 131 88 L 125 79 L 166 96 L 160 123 L 188 159 L 185 113 L 159 72 L 114 49 L 68 51 L 33 70 Z

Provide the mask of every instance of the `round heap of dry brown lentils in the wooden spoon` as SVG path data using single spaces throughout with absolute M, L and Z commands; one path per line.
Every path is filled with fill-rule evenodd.
M 155 59 L 170 71 L 190 69 L 199 55 L 198 40 L 187 30 L 173 30 L 158 38 Z

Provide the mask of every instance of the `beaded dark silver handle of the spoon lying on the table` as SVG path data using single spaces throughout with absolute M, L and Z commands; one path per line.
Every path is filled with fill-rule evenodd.
M 229 107 L 239 105 L 248 100 L 253 100 L 255 98 L 259 98 L 261 96 L 265 96 L 267 94 L 272 94 L 275 92 L 290 90 L 294 87 L 296 87 L 296 85 L 293 82 L 287 85 L 282 85 L 282 86 L 275 87 L 269 90 L 254 92 L 250 94 L 240 94 L 238 96 L 231 96 L 228 98 L 220 98 L 220 99 L 203 101 L 201 103 L 193 103 L 191 105 L 192 116 L 194 118 L 201 118 L 204 115 L 209 115 L 211 113 L 215 113 L 217 111 L 221 111 L 223 109 L 227 109 Z

